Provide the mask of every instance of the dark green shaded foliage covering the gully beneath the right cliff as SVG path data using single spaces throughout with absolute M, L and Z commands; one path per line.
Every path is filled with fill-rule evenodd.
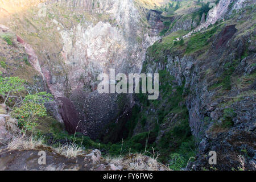
M 143 126 L 148 125 L 155 125 L 155 127 L 154 129 L 151 128 L 149 137 L 148 132 L 145 132 L 132 138 L 126 138 L 125 142 L 123 142 L 123 146 L 125 146 L 123 148 L 126 152 L 129 150 L 132 152 L 143 152 L 148 138 L 146 154 L 149 155 L 148 152 L 152 154 L 152 152 L 158 151 L 160 154 L 159 160 L 166 164 L 169 163 L 170 154 L 173 153 L 179 153 L 185 161 L 188 161 L 191 156 L 195 155 L 195 142 L 193 141 L 189 127 L 187 108 L 180 104 L 184 101 L 184 86 L 174 86 L 172 83 L 174 77 L 166 69 L 158 73 L 160 81 L 159 97 L 161 100 L 148 101 L 146 94 L 138 94 L 138 100 L 143 107 L 134 110 L 136 113 L 133 111 L 133 122 L 135 125 L 137 125 L 137 122 L 141 122 L 142 129 Z M 154 110 L 154 116 L 151 115 L 152 113 L 148 113 L 149 110 Z M 169 114 L 177 114 L 178 119 L 175 121 L 176 124 L 156 142 L 155 139 L 158 136 L 160 125 L 164 122 L 170 122 Z M 151 117 L 154 117 L 154 119 Z M 127 123 L 131 123 L 131 121 Z M 134 127 L 130 127 L 129 133 L 133 134 L 133 130 Z M 185 163 L 183 163 L 182 167 L 185 167 Z

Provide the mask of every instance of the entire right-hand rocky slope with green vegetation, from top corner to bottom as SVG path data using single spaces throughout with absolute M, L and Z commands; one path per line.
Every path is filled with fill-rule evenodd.
M 170 34 L 148 49 L 142 71 L 160 74 L 161 93 L 156 102 L 140 99 L 141 112 L 152 119 L 141 117 L 134 133 L 159 126 L 156 146 L 163 150 L 162 139 L 173 137 L 166 143 L 172 151 L 182 146 L 175 128 L 188 119 L 199 144 L 188 169 L 237 169 L 243 155 L 244 168 L 255 170 L 255 5 L 221 3 L 225 13 L 217 20 L 224 22 L 180 42 Z M 210 151 L 217 152 L 216 166 L 208 163 Z

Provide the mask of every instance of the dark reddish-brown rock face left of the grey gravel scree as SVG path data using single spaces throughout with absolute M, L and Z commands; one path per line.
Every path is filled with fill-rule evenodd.
M 59 97 L 58 99 L 61 102 L 60 115 L 63 119 L 65 130 L 67 130 L 69 134 L 79 132 L 79 117 L 75 106 L 68 98 Z

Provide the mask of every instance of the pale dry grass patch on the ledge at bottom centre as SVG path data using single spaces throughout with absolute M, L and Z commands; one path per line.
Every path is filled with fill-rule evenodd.
M 127 171 L 169 171 L 170 169 L 157 161 L 157 158 L 150 158 L 143 154 L 131 154 L 113 158 L 108 156 L 106 162 L 115 166 L 122 166 Z

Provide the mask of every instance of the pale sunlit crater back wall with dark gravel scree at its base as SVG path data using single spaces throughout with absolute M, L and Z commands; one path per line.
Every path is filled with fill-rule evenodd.
M 98 130 L 87 129 L 105 126 L 124 110 L 118 106 L 116 96 L 97 94 L 98 74 L 109 73 L 110 68 L 116 73 L 139 73 L 146 49 L 158 39 L 160 27 L 151 31 L 144 8 L 138 10 L 131 0 L 1 1 L 0 4 L 5 17 L 1 24 L 17 34 L 28 61 L 47 89 L 61 106 L 66 102 L 59 98 L 72 98 L 75 109 L 79 110 L 73 110 L 79 117 L 71 126 L 81 121 L 81 131 L 97 137 Z M 104 105 L 97 104 L 98 98 Z M 95 104 L 93 112 L 85 112 L 85 108 Z M 55 112 L 60 121 L 70 114 Z M 64 122 L 69 125 L 70 121 Z

